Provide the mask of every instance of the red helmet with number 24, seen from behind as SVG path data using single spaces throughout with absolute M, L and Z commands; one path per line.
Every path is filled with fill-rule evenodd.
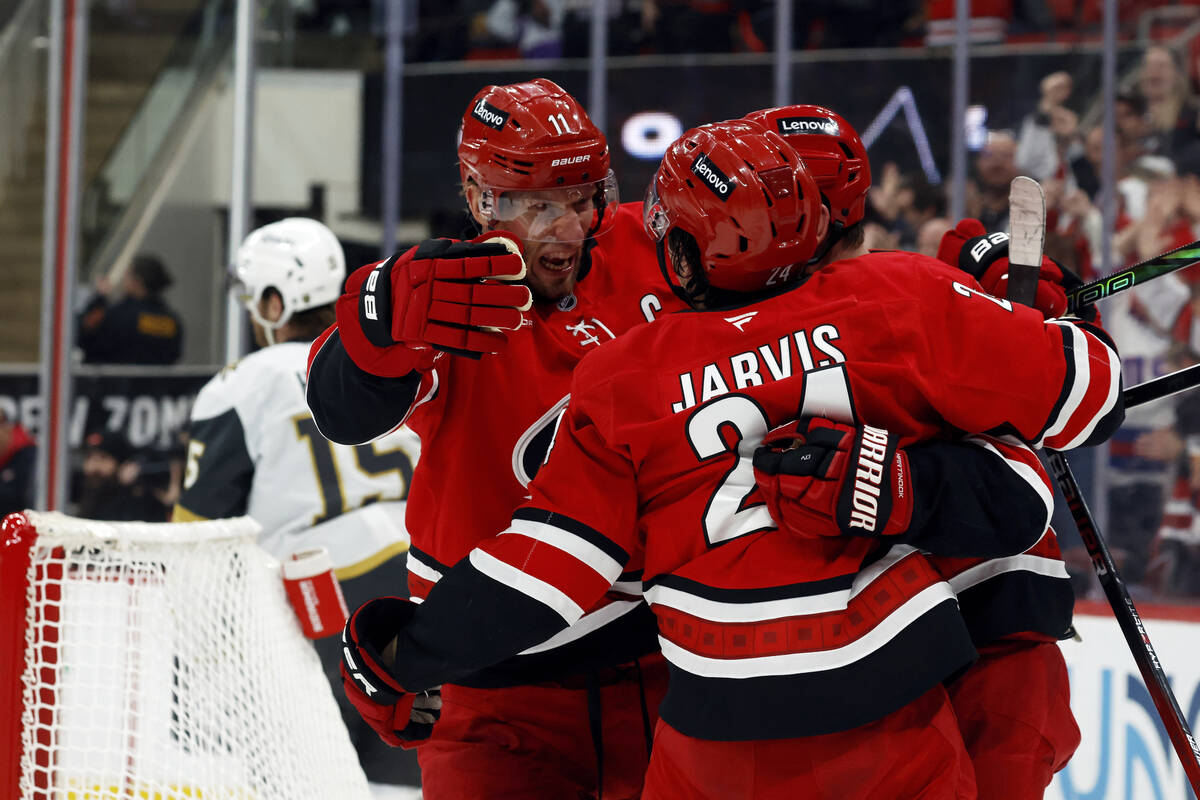
M 695 237 L 703 279 L 718 289 L 787 283 L 799 270 L 778 269 L 806 263 L 820 243 L 821 193 L 804 162 L 745 120 L 692 128 L 667 148 L 643 211 L 654 240 L 676 229 Z

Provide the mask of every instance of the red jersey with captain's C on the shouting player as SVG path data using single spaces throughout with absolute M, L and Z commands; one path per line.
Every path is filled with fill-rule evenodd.
M 662 279 L 653 242 L 642 230 L 640 204 L 619 206 L 590 258 L 575 293 L 557 305 L 535 303 L 524 326 L 493 356 L 431 354 L 428 369 L 410 379 L 386 379 L 358 369 L 336 329 L 314 343 L 308 403 L 322 433 L 361 443 L 407 419 L 421 439 L 406 517 L 414 597 L 424 597 L 528 498 L 580 359 L 655 314 L 683 307 Z M 371 269 L 352 276 L 349 289 Z M 550 680 L 623 663 L 656 646 L 649 610 L 636 597 L 613 597 L 562 637 L 460 682 Z

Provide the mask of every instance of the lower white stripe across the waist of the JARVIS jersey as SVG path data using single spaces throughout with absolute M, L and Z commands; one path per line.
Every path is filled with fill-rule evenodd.
M 832 650 L 787 652 L 751 658 L 710 658 L 685 650 L 661 636 L 659 643 L 662 645 L 662 655 L 666 656 L 667 661 L 702 678 L 764 678 L 836 669 L 871 655 L 938 603 L 953 600 L 953 597 L 954 594 L 950 591 L 949 584 L 938 582 L 911 597 L 866 634 Z

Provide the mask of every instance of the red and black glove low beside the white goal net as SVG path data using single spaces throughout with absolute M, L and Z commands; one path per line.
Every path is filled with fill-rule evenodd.
M 437 688 L 409 692 L 391 676 L 396 634 L 416 603 L 401 597 L 367 601 L 350 614 L 342 631 L 342 688 L 359 716 L 392 747 L 414 747 L 433 733 L 442 715 Z

